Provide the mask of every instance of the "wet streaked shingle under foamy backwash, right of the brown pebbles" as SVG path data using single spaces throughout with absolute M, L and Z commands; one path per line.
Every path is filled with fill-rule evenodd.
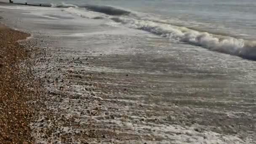
M 45 72 L 41 76 L 48 92 L 43 101 L 51 116 L 45 118 L 42 112 L 33 124 L 36 131 L 43 129 L 37 135 L 41 142 L 253 143 L 253 97 L 241 103 L 234 100 L 243 99 L 240 92 L 225 98 L 225 92 L 215 92 L 221 83 L 217 90 L 186 88 L 194 83 L 207 89 L 207 82 L 189 77 L 211 74 L 173 74 L 173 81 L 165 81 L 169 75 L 138 70 L 143 65 L 138 61 L 149 55 L 92 56 L 86 51 L 47 49 L 48 63 L 38 65 L 37 71 Z

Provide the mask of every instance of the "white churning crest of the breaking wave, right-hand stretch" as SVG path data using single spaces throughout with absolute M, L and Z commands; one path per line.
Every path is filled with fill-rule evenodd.
M 111 19 L 133 29 L 140 29 L 156 35 L 161 35 L 162 37 L 168 37 L 180 42 L 201 46 L 203 48 L 208 48 L 211 51 L 219 51 L 230 55 L 240 56 L 244 59 L 256 60 L 256 41 L 213 35 L 208 32 L 198 32 L 186 27 L 160 24 L 153 21 L 117 17 Z

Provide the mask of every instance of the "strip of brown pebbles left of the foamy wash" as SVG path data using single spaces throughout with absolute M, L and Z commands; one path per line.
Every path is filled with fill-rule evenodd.
M 0 144 L 32 143 L 29 123 L 34 108 L 28 101 L 36 95 L 29 55 L 32 52 L 17 43 L 29 34 L 0 24 Z M 25 67 L 21 67 L 21 63 Z

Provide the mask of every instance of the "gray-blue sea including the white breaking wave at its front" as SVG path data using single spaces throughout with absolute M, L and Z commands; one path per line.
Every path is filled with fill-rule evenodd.
M 111 19 L 116 25 L 256 59 L 253 0 L 27 0 L 27 3 L 67 8 L 65 11 L 81 17 Z

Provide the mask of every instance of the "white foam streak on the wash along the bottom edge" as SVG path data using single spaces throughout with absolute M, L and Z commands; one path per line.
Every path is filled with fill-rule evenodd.
M 220 135 L 213 131 L 197 132 L 193 127 L 181 127 L 180 125 L 158 125 L 149 123 L 141 125 L 120 120 L 103 120 L 105 123 L 119 125 L 131 130 L 133 133 L 144 133 L 154 136 L 165 136 L 175 144 L 245 144 L 246 142 L 231 135 Z M 149 134 L 150 131 L 150 134 Z M 152 141 L 151 141 L 152 142 Z M 166 141 L 159 142 L 164 144 Z M 150 142 L 149 142 L 150 143 Z

